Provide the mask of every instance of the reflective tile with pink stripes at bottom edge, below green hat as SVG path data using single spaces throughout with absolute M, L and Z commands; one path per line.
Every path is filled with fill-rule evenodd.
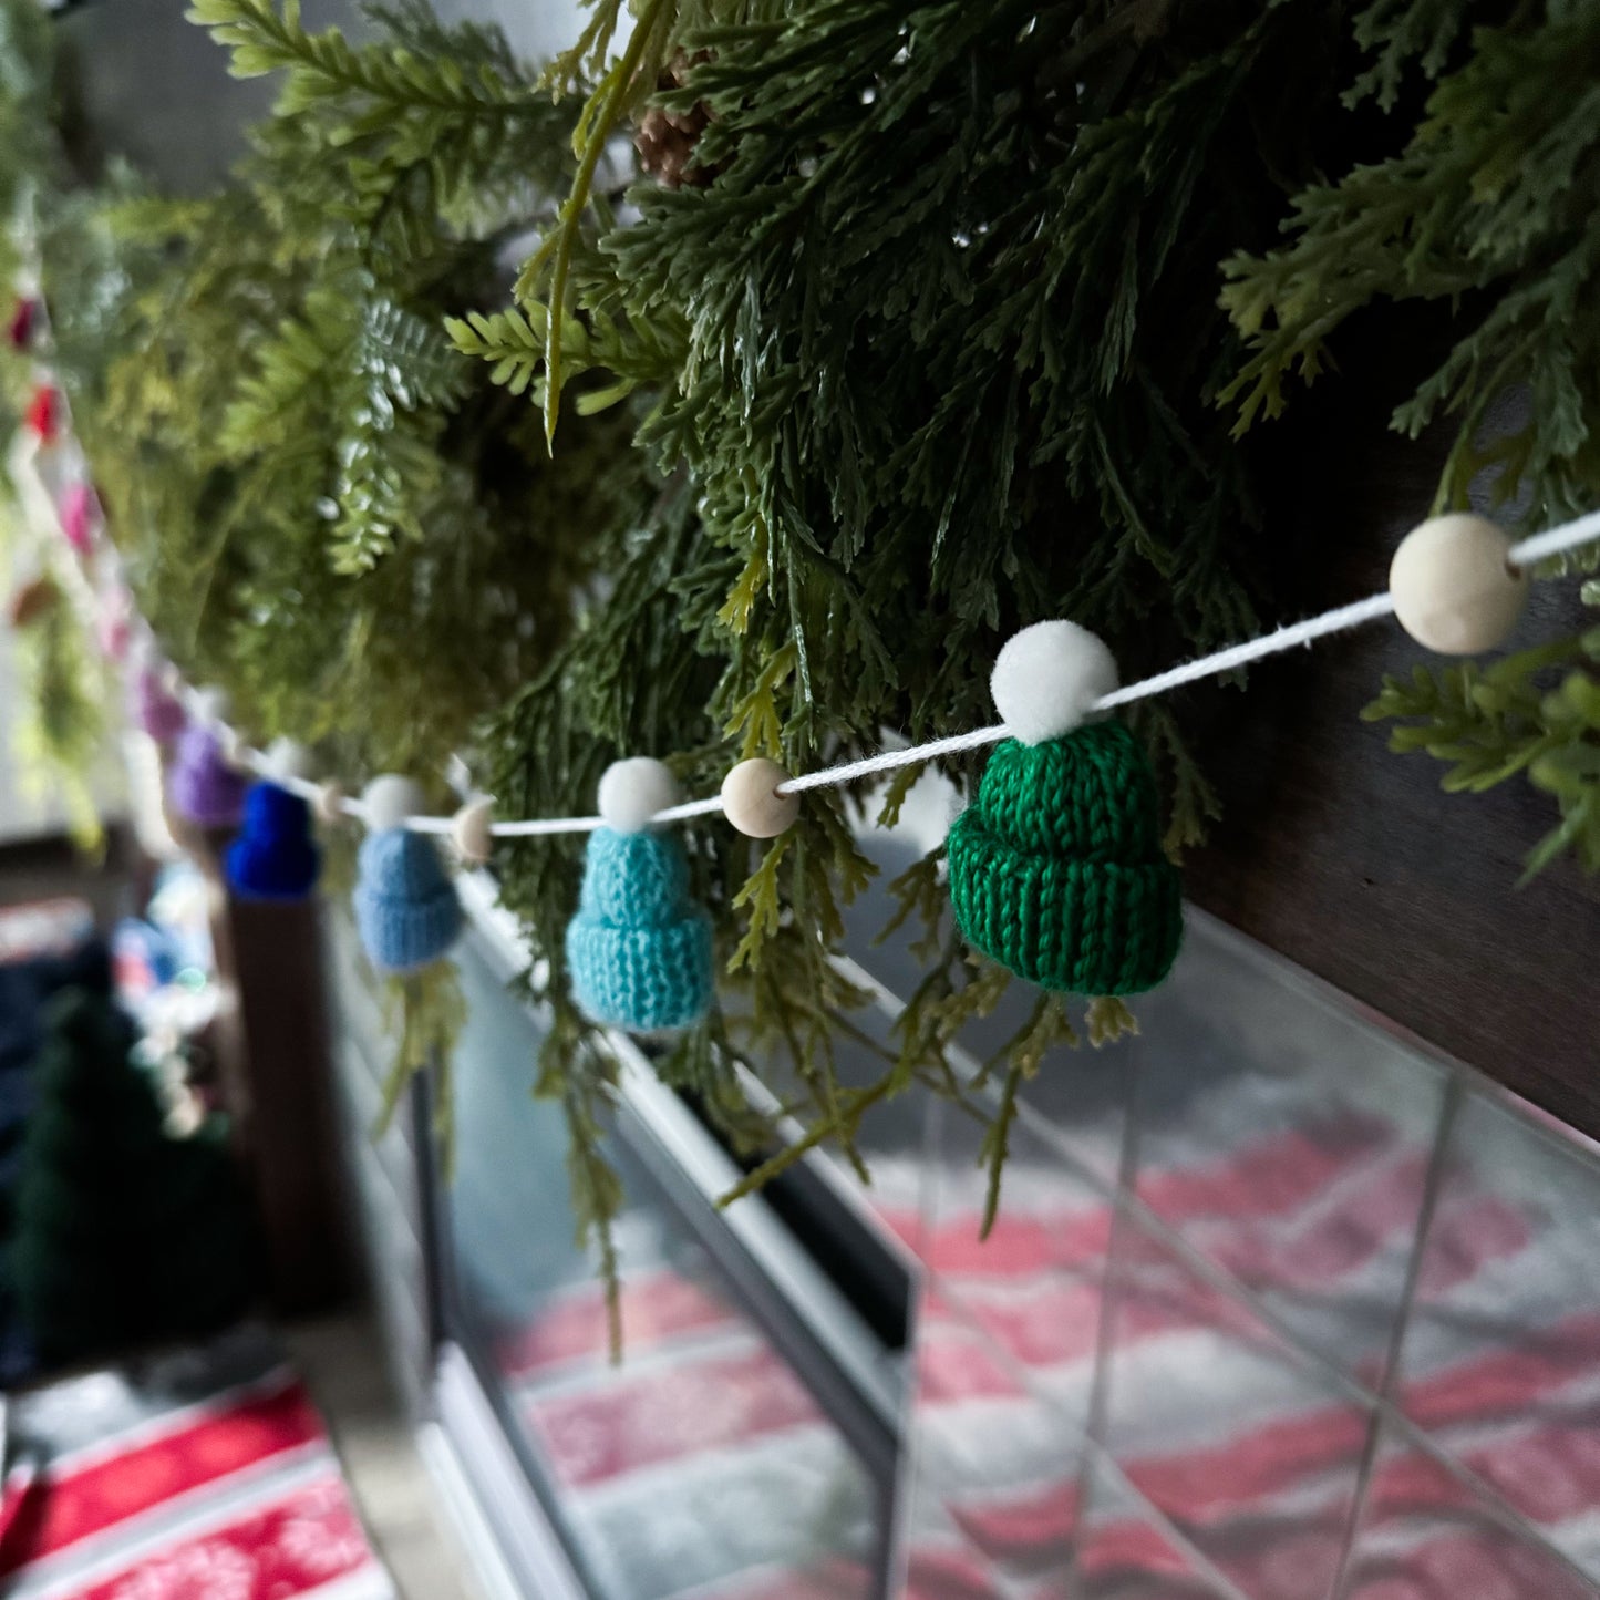
M 1328 1595 L 1366 1408 L 1138 1227 L 1112 1248 L 1112 1459 L 1251 1600 Z

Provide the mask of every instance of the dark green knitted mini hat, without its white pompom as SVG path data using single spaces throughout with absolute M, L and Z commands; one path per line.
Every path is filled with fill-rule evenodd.
M 1000 744 L 949 856 L 962 934 L 1019 978 L 1125 995 L 1171 970 L 1182 886 L 1162 853 L 1150 760 L 1123 723 Z

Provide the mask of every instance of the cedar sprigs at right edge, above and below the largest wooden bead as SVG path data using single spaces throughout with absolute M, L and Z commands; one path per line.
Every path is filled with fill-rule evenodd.
M 1496 26 L 1469 22 L 1488 14 Z M 1427 80 L 1394 154 L 1302 190 L 1267 254 L 1232 256 L 1222 302 L 1250 341 L 1224 398 L 1238 429 L 1275 416 L 1294 378 L 1331 362 L 1378 301 L 1445 301 L 1453 344 L 1394 413 L 1410 437 L 1440 419 L 1453 443 L 1435 510 L 1483 485 L 1499 515 L 1547 526 L 1600 502 L 1600 8 L 1587 0 L 1469 6 L 1378 0 L 1355 19 L 1374 51 L 1352 101 L 1384 109 Z M 1507 406 L 1507 398 L 1514 406 Z M 1595 570 L 1595 555 L 1552 563 Z M 1586 590 L 1586 598 L 1592 597 Z M 1528 875 L 1566 850 L 1600 870 L 1600 670 L 1595 630 L 1488 666 L 1419 666 L 1368 707 L 1405 718 L 1397 750 L 1450 762 L 1446 789 L 1526 774 L 1562 821 Z M 1557 669 L 1565 677 L 1554 682 Z

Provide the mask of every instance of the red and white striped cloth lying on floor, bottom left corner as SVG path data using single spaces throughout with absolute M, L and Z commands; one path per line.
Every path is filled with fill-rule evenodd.
M 322 1419 L 242 1333 L 11 1402 L 8 1600 L 394 1600 Z M 224 1376 L 226 1374 L 226 1376 Z

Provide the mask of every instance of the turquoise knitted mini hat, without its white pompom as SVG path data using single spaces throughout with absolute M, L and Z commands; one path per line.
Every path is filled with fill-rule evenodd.
M 566 926 L 573 997 L 595 1022 L 635 1034 L 686 1027 L 712 997 L 710 918 L 688 898 L 672 834 L 589 835 L 578 915 Z

